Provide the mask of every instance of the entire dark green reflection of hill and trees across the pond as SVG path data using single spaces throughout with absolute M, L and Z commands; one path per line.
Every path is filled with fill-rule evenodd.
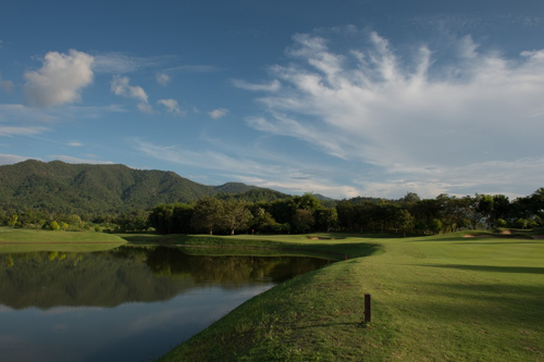
M 177 249 L 132 247 L 3 259 L 0 303 L 14 309 L 168 300 L 206 283 L 231 288 L 260 279 L 282 282 L 326 264 L 311 258 L 195 257 Z

